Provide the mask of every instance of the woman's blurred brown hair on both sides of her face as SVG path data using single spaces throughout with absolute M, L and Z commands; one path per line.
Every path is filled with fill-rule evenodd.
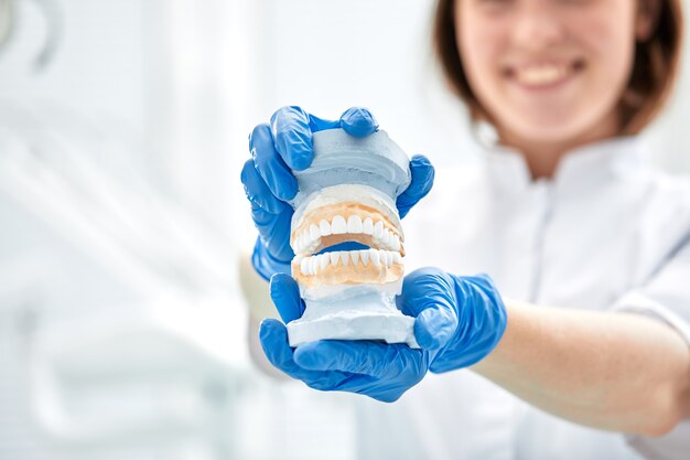
M 467 105 L 474 121 L 489 120 L 475 97 L 463 69 L 455 41 L 454 4 L 439 0 L 433 23 L 433 46 L 451 88 Z M 666 104 L 678 75 L 682 47 L 683 18 L 680 0 L 662 0 L 651 36 L 635 46 L 635 62 L 628 86 L 619 101 L 621 133 L 634 135 L 649 125 Z

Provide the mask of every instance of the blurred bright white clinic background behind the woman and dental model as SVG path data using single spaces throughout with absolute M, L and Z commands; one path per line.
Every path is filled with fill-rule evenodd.
M 353 459 L 346 395 L 250 360 L 247 136 L 369 107 L 476 161 L 432 0 L 0 0 L 0 459 Z M 690 172 L 690 68 L 645 136 Z M 250 300 L 250 302 L 247 301 Z

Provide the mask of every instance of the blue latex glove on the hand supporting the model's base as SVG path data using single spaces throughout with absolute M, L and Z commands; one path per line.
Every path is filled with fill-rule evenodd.
M 270 291 L 285 323 L 302 315 L 304 303 L 291 277 L 274 275 Z M 261 346 L 276 367 L 312 388 L 359 393 L 391 403 L 429 370 L 446 372 L 478 362 L 494 350 L 506 328 L 506 309 L 486 276 L 416 270 L 405 278 L 398 307 L 417 318 L 414 336 L 420 350 L 341 340 L 291 349 L 284 324 L 272 319 L 261 323 Z

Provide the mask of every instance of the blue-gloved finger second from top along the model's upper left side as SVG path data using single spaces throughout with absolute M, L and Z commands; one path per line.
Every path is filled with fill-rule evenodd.
M 271 193 L 282 201 L 292 200 L 298 193 L 298 181 L 276 150 L 268 124 L 254 128 L 249 136 L 249 151 Z

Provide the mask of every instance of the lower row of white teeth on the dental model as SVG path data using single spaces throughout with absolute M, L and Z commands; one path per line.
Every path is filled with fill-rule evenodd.
M 351 260 L 353 265 L 365 267 L 369 263 L 375 267 L 391 267 L 393 264 L 402 264 L 402 256 L 395 250 L 382 249 L 338 250 L 304 257 L 299 265 L 302 275 L 314 276 L 330 266 L 348 266 Z

